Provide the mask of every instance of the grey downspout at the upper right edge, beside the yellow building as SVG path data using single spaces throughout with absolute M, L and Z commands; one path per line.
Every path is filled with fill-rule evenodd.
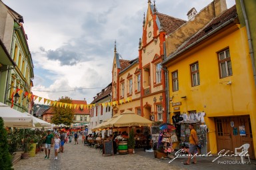
M 251 33 L 250 33 L 250 29 L 249 29 L 249 23 L 248 23 L 246 11 L 245 11 L 245 5 L 243 3 L 243 0 L 240 0 L 240 3 L 241 3 L 241 9 L 243 12 L 243 17 L 245 19 L 245 27 L 246 27 L 246 32 L 247 32 L 248 44 L 249 44 L 249 54 L 251 56 L 251 64 L 253 65 L 253 78 L 254 78 L 254 83 L 256 86 L 256 70 L 255 70 L 255 62 L 254 62 L 253 44 L 251 42 Z

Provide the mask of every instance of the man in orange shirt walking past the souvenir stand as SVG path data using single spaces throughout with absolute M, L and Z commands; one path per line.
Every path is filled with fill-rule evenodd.
M 190 129 L 189 156 L 187 158 L 187 161 L 184 163 L 184 165 L 190 164 L 191 155 L 195 155 L 195 153 L 197 151 L 197 144 L 198 144 L 197 131 L 195 131 L 195 129 L 193 129 L 193 124 L 189 124 L 189 129 Z M 194 161 L 192 163 L 194 163 L 194 164 L 197 163 L 197 159 L 195 157 L 194 157 Z

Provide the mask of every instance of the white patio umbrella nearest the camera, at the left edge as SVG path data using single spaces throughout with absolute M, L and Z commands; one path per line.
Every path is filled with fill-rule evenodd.
M 33 128 L 33 118 L 0 102 L 0 117 L 5 127 Z

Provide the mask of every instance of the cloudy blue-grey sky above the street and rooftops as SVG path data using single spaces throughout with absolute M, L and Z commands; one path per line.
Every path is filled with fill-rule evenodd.
M 148 0 L 2 1 L 23 16 L 36 96 L 49 100 L 68 96 L 89 104 L 112 81 L 115 41 L 124 60 L 139 55 Z M 199 12 L 212 1 L 156 0 L 155 4 L 159 13 L 187 21 L 191 8 Z M 235 0 L 226 1 L 227 8 L 235 5 Z

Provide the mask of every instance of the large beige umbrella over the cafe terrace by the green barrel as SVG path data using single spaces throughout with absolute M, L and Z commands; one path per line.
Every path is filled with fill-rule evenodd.
M 123 114 L 109 122 L 107 127 L 119 128 L 127 126 L 150 126 L 151 124 L 153 124 L 152 121 L 147 120 L 146 118 L 143 118 L 130 110 L 126 110 L 125 112 L 123 112 Z

